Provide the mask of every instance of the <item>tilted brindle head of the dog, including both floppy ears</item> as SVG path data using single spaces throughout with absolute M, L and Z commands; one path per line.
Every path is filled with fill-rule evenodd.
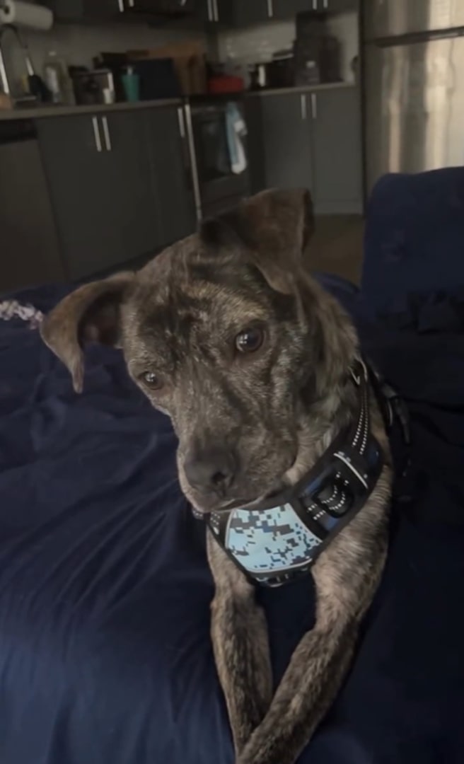
M 355 338 L 304 272 L 312 230 L 309 193 L 261 193 L 137 274 L 82 286 L 44 322 L 76 390 L 86 342 L 122 348 L 172 419 L 180 483 L 200 510 L 299 480 L 336 412 Z

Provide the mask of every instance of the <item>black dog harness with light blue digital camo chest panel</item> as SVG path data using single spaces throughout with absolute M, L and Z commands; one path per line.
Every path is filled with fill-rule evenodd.
M 219 510 L 208 516 L 217 542 L 251 581 L 277 587 L 307 574 L 372 494 L 384 465 L 370 427 L 368 381 L 374 376 L 364 362 L 355 363 L 355 421 L 336 436 L 303 480 L 252 509 Z M 399 399 L 375 379 L 375 393 L 379 397 L 381 389 L 382 413 L 391 425 Z

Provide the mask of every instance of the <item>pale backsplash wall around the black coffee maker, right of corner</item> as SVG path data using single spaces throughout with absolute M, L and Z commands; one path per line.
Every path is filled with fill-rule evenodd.
M 353 11 L 329 17 L 328 31 L 342 44 L 342 78 L 352 81 L 351 62 L 359 53 L 358 15 Z M 294 39 L 294 20 L 271 21 L 247 29 L 228 30 L 218 36 L 219 60 L 229 59 L 234 63 L 267 61 L 276 50 L 292 47 Z

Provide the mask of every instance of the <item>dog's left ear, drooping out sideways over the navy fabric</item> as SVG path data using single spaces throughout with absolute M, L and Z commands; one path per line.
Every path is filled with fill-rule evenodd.
M 133 278 L 130 273 L 116 274 L 81 286 L 58 303 L 41 325 L 44 342 L 70 370 L 76 393 L 83 389 L 83 345 L 118 345 L 121 303 Z

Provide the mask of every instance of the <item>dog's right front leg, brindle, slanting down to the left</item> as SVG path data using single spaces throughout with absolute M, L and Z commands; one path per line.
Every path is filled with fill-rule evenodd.
M 238 764 L 294 764 L 336 698 L 385 562 L 386 533 L 366 540 L 347 528 L 314 565 L 316 625 L 297 646 Z

